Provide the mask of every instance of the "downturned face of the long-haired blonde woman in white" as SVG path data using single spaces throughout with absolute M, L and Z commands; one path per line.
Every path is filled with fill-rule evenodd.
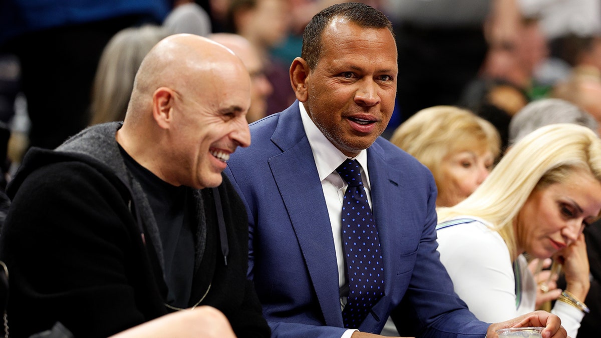
M 600 209 L 601 183 L 585 170 L 573 170 L 563 183 L 535 189 L 514 223 L 518 252 L 551 257 L 576 241 Z

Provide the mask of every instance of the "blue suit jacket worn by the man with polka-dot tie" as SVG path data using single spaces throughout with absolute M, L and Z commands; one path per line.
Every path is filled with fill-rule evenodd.
M 277 337 L 344 332 L 334 239 L 298 102 L 251 124 L 252 145 L 226 173 L 249 214 L 249 277 Z M 380 333 L 391 315 L 401 336 L 484 337 L 453 292 L 436 251 L 436 185 L 416 159 L 383 138 L 367 150 L 385 296 L 359 330 Z

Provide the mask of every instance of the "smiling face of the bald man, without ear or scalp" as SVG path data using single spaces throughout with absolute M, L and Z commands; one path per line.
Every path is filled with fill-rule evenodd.
M 214 187 L 221 184 L 230 154 L 251 142 L 246 122 L 250 78 L 234 64 L 222 67 L 210 81 L 198 76 L 191 82 L 173 108 L 171 171 L 178 174 L 180 185 Z

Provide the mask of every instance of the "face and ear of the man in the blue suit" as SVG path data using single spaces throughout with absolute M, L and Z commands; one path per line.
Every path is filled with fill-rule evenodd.
M 313 70 L 303 67 L 295 86 L 311 120 L 346 156 L 354 157 L 382 134 L 394 109 L 397 49 L 386 28 L 364 28 L 334 18 L 322 33 L 322 53 Z M 302 59 L 300 59 L 302 60 Z M 302 60 L 304 61 L 304 60 Z

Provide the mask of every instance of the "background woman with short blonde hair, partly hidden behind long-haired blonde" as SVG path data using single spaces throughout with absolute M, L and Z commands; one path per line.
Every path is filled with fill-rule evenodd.
M 489 121 L 456 106 L 422 109 L 398 126 L 391 142 L 432 171 L 436 206 L 453 206 L 474 192 L 501 145 Z

